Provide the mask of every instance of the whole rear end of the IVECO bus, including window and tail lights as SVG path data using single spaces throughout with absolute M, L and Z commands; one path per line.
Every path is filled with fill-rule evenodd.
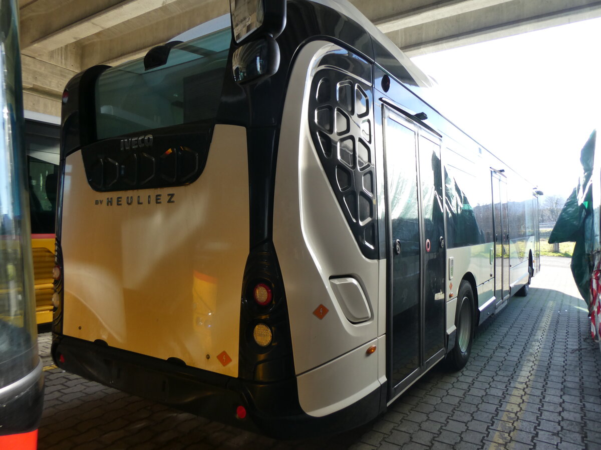
M 66 87 L 52 355 L 88 379 L 283 435 L 273 419 L 302 410 L 281 274 L 261 237 L 270 169 L 254 143 L 272 151 L 275 127 L 251 130 L 231 29 L 214 28 L 157 65 L 162 50 Z

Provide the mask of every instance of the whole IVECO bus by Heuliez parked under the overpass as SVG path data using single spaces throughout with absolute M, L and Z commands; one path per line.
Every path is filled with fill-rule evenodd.
M 67 85 L 53 358 L 272 436 L 355 427 L 527 293 L 537 193 L 349 2 L 231 17 Z

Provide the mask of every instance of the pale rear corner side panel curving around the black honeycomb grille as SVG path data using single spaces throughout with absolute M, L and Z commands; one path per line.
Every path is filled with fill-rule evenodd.
M 296 59 L 289 85 L 310 86 L 311 66 L 326 50 L 336 48 L 322 41 L 307 44 Z M 378 383 L 375 355 L 355 365 L 353 374 L 347 371 L 346 361 L 355 358 L 347 360 L 340 356 L 354 349 L 364 352 L 359 347 L 377 338 L 378 322 L 373 314 L 379 311 L 383 278 L 380 262 L 365 258 L 359 250 L 326 178 L 308 130 L 307 104 L 308 93 L 288 90 L 275 179 L 273 244 L 286 289 L 296 373 L 304 374 L 331 361 L 327 370 L 304 375 L 304 379 L 311 380 L 313 385 L 323 382 L 333 386 L 329 374 L 345 373 L 335 383 L 340 384 L 336 396 L 350 398 L 357 392 L 373 390 Z M 358 281 L 371 319 L 357 324 L 347 319 L 330 284 L 330 278 L 338 277 Z M 323 319 L 313 314 L 320 305 L 329 311 Z M 352 379 L 355 373 L 368 376 Z M 322 408 L 334 399 L 317 401 L 312 390 L 299 382 L 301 406 L 305 411 L 321 414 Z M 323 391 L 319 395 L 323 396 Z M 344 402 L 335 403 L 338 408 Z

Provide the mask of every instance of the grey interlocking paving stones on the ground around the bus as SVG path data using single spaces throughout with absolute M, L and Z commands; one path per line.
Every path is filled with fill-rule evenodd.
M 178 412 L 52 368 L 40 449 L 601 449 L 601 352 L 569 259 L 544 258 L 526 298 L 477 331 L 459 373 L 435 367 L 383 416 L 347 433 L 285 442 Z

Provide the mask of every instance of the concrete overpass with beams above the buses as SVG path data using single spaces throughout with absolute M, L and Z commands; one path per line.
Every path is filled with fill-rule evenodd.
M 601 16 L 596 0 L 351 0 L 409 56 Z M 60 115 L 67 81 L 143 56 L 228 0 L 19 0 L 25 109 Z

